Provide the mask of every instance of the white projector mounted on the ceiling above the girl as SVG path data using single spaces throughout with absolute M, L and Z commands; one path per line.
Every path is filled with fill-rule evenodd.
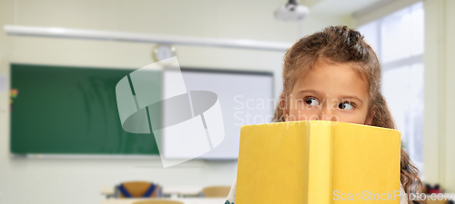
M 283 21 L 301 21 L 309 15 L 305 5 L 298 5 L 297 0 L 289 0 L 288 4 L 281 5 L 275 11 L 275 18 Z

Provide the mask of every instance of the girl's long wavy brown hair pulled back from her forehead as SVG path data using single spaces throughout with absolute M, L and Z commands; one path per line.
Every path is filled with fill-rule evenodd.
M 321 32 L 310 34 L 293 44 L 284 56 L 283 92 L 277 104 L 272 121 L 286 121 L 281 101 L 286 102 L 288 94 L 298 77 L 311 70 L 315 64 L 349 63 L 369 85 L 369 112 L 373 117 L 372 126 L 396 129 L 395 122 L 380 92 L 380 65 L 373 49 L 357 31 L 347 26 L 330 26 Z M 422 193 L 423 185 L 419 170 L 411 163 L 408 153 L 401 148 L 400 181 L 405 192 Z M 408 197 L 409 198 L 409 197 Z M 425 200 L 416 200 L 425 203 Z M 408 203 L 412 203 L 408 199 Z

